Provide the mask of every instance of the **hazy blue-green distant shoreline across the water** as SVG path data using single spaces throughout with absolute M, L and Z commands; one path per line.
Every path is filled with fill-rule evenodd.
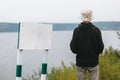
M 72 31 L 79 23 L 46 23 L 53 24 L 53 31 Z M 120 30 L 120 21 L 93 22 L 101 30 Z M 19 23 L 0 23 L 0 32 L 17 32 Z

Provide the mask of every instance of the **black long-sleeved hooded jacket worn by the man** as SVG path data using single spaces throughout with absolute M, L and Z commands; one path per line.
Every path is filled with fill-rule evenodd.
M 73 32 L 70 49 L 76 55 L 76 65 L 94 67 L 98 64 L 99 54 L 104 44 L 100 30 L 92 23 L 82 22 Z

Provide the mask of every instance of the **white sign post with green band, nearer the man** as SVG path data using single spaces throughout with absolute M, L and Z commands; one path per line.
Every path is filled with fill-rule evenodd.
M 48 56 L 48 49 L 46 49 L 45 53 L 43 54 L 43 62 L 42 62 L 42 70 L 41 70 L 41 80 L 46 80 L 47 56 Z

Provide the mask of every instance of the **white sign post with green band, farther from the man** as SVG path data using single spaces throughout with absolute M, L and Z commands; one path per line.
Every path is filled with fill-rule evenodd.
M 22 80 L 22 51 L 17 49 L 16 80 Z

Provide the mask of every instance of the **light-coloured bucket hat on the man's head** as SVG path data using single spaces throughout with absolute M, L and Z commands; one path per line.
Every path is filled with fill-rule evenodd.
M 93 19 L 93 13 L 91 10 L 83 10 L 81 12 L 81 20 L 84 22 L 84 21 L 87 21 L 87 22 L 90 22 L 92 21 Z

